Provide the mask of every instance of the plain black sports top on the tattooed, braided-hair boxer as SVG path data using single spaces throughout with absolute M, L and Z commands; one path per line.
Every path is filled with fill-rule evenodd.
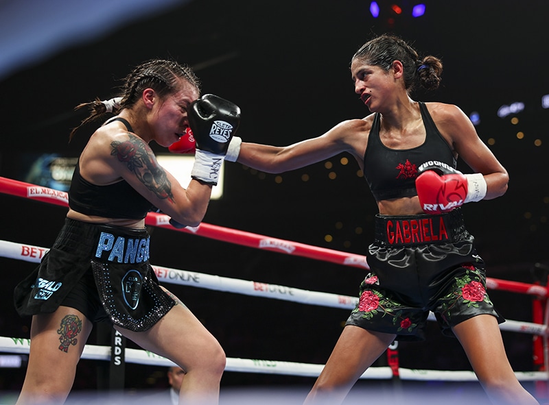
M 111 121 L 120 121 L 129 132 L 133 132 L 125 119 L 114 117 L 106 123 Z M 107 186 L 91 184 L 80 175 L 80 162 L 76 162 L 69 188 L 69 207 L 86 215 L 124 219 L 143 219 L 154 208 L 125 180 Z

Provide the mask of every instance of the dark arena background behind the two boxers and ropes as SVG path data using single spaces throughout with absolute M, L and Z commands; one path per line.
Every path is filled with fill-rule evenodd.
M 488 277 L 545 286 L 548 15 L 545 0 L 5 0 L 0 3 L 0 176 L 66 190 L 71 164 L 94 129 L 86 126 L 68 142 L 71 128 L 85 114 L 74 112 L 74 106 L 114 97 L 132 66 L 151 58 L 193 66 L 202 93 L 237 103 L 243 140 L 288 145 L 318 136 L 340 121 L 369 114 L 353 92 L 349 62 L 366 40 L 390 32 L 443 60 L 441 88 L 412 98 L 458 105 L 509 171 L 506 195 L 463 207 Z M 152 147 L 167 154 L 167 149 Z M 226 162 L 223 195 L 211 201 L 204 223 L 364 256 L 376 206 L 349 158 L 335 156 L 281 175 Z M 459 164 L 458 169 L 468 171 Z M 6 193 L 0 193 L 0 204 L 0 240 L 38 247 L 51 246 L 67 212 L 64 206 Z M 355 297 L 366 273 L 192 232 L 154 227 L 150 232 L 153 265 L 253 280 L 267 292 L 288 286 Z M 29 337 L 30 319 L 16 314 L 12 295 L 35 266 L 0 258 L 0 336 Z M 218 338 L 228 358 L 255 359 L 267 366 L 324 364 L 349 314 L 349 309 L 314 302 L 167 287 Z M 539 315 L 535 308 L 545 308 L 546 297 L 498 290 L 489 294 L 506 319 L 534 322 Z M 544 317 L 537 323 L 544 323 Z M 515 371 L 547 371 L 535 351 L 541 338 L 507 330 L 502 334 Z M 96 327 L 88 343 L 110 345 L 110 328 Z M 138 348 L 129 341 L 126 347 Z M 471 371 L 456 339 L 443 337 L 434 322 L 425 342 L 401 343 L 397 354 L 399 367 L 406 369 Z M 27 356 L 6 350 L 0 359 L 0 404 L 13 404 Z M 387 367 L 390 359 L 383 355 L 374 366 Z M 126 363 L 117 381 L 109 370 L 108 359 L 82 359 L 69 401 L 91 402 L 111 393 L 113 403 L 128 397 L 148 403 L 148 395 L 167 389 L 165 364 Z M 299 404 L 314 379 L 226 371 L 221 402 Z M 548 401 L 544 381 L 523 384 L 540 402 Z M 444 396 L 436 400 L 438 393 Z M 412 404 L 417 397 L 422 404 L 457 404 L 470 400 L 468 395 L 486 401 L 478 382 L 393 377 L 360 380 L 346 403 L 377 398 Z

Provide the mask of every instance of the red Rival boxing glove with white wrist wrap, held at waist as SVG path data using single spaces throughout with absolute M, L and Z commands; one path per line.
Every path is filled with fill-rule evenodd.
M 423 212 L 442 214 L 471 201 L 480 201 L 487 192 L 482 173 L 463 174 L 443 162 L 421 164 L 416 179 L 417 197 Z

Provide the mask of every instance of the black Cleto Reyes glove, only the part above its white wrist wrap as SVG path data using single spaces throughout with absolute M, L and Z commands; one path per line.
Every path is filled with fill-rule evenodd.
M 216 95 L 203 95 L 189 108 L 189 125 L 202 151 L 225 155 L 239 124 L 240 108 Z

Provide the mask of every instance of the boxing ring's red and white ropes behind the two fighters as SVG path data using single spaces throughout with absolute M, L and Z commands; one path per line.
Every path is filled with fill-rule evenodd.
M 0 193 L 22 197 L 26 199 L 56 204 L 68 207 L 68 195 L 63 191 L 36 186 L 25 182 L 0 177 Z M 150 212 L 145 219 L 145 224 L 156 228 L 166 228 L 174 232 L 186 232 L 196 236 L 211 238 L 217 241 L 243 245 L 254 249 L 274 251 L 279 254 L 302 256 L 314 260 L 324 260 L 347 267 L 355 267 L 362 271 L 369 269 L 365 256 L 350 254 L 342 251 L 314 247 L 293 241 L 285 241 L 279 238 L 271 238 L 250 232 L 242 232 L 217 225 L 201 223 L 196 228 L 176 229 L 169 223 L 170 217 L 165 214 Z M 12 241 L 0 241 L 0 257 L 12 260 L 24 260 L 26 262 L 40 262 L 47 252 L 47 247 L 25 245 Z M 172 269 L 169 267 L 152 267 L 162 283 L 192 286 L 200 289 L 209 289 L 223 293 L 241 294 L 268 299 L 278 299 L 298 304 L 309 304 L 340 308 L 347 312 L 355 307 L 358 297 L 324 293 L 320 291 L 308 291 L 296 289 L 292 286 L 267 284 L 252 280 L 238 280 L 234 278 L 220 277 L 185 269 Z M 533 336 L 533 369 L 534 371 L 516 371 L 520 381 L 534 382 L 536 392 L 533 393 L 541 402 L 549 400 L 549 293 L 546 286 L 541 284 L 526 284 L 495 278 L 487 278 L 487 288 L 507 293 L 528 295 L 533 302 L 533 321 L 507 320 L 500 325 L 501 330 L 519 334 L 531 334 Z M 347 316 L 346 314 L 344 316 Z M 431 313 L 429 319 L 434 320 Z M 114 336 L 114 335 L 113 335 Z M 141 365 L 170 366 L 173 363 L 166 358 L 152 354 L 141 349 L 130 349 L 119 343 L 117 336 L 113 337 L 113 344 L 86 345 L 82 358 L 92 360 L 106 360 L 115 364 L 116 358 L 122 363 L 136 363 Z M 28 354 L 30 339 L 0 336 L 0 353 Z M 366 380 L 414 380 L 414 381 L 476 381 L 473 371 L 441 371 L 407 369 L 399 367 L 397 345 L 387 350 L 387 367 L 370 367 L 360 379 Z M 227 357 L 226 371 L 244 373 L 270 373 L 286 376 L 316 377 L 323 365 L 308 363 L 292 363 L 270 359 L 248 359 Z M 122 376 L 123 377 L 123 376 Z M 120 378 L 120 376 L 118 376 Z M 123 387 L 123 384 L 122 384 Z

